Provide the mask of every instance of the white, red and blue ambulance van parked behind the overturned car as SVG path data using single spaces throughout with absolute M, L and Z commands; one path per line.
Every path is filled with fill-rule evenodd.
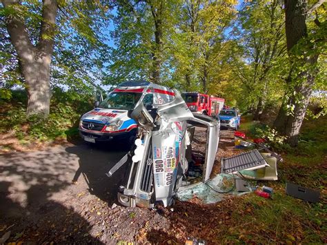
M 148 110 L 153 104 L 166 104 L 175 98 L 175 92 L 148 81 L 126 81 L 109 93 L 103 101 L 81 117 L 79 133 L 84 141 L 130 141 L 137 134 L 137 122 L 128 117 L 128 110 L 142 101 Z

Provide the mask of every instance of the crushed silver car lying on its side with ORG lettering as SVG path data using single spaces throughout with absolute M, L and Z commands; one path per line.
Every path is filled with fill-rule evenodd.
M 166 104 L 154 104 L 148 110 L 140 99 L 128 113 L 139 127 L 136 146 L 127 159 L 128 178 L 118 193 L 118 200 L 124 206 L 150 208 L 157 203 L 164 206 L 173 203 L 173 197 L 188 175 L 194 126 L 207 129 L 202 181 L 210 178 L 219 142 L 219 121 L 193 114 L 179 92 L 174 90 L 174 93 Z M 119 161 L 118 166 L 123 161 Z M 114 168 L 110 173 L 117 170 L 117 165 Z

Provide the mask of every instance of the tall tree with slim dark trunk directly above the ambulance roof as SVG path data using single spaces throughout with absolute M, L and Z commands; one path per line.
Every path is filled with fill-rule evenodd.
M 111 82 L 124 79 L 166 81 L 170 32 L 179 1 L 117 1 Z

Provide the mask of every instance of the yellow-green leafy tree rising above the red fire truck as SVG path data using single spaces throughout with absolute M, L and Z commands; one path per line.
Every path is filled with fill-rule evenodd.
M 226 35 L 236 17 L 235 1 L 188 0 L 181 6 L 172 39 L 175 79 L 183 79 L 186 90 L 208 92 L 217 66 L 228 50 Z

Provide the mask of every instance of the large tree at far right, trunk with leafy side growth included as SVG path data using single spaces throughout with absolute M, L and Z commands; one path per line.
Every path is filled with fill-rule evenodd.
M 275 120 L 275 127 L 288 136 L 291 146 L 297 146 L 299 130 L 319 72 L 319 55 L 326 51 L 326 11 L 320 17 L 323 22 L 317 12 L 324 1 L 319 0 L 308 8 L 306 0 L 285 0 L 286 41 L 291 67 L 286 79 L 284 103 Z M 315 17 L 310 15 L 313 12 Z M 315 28 L 310 26 L 308 30 L 310 21 L 315 23 Z

